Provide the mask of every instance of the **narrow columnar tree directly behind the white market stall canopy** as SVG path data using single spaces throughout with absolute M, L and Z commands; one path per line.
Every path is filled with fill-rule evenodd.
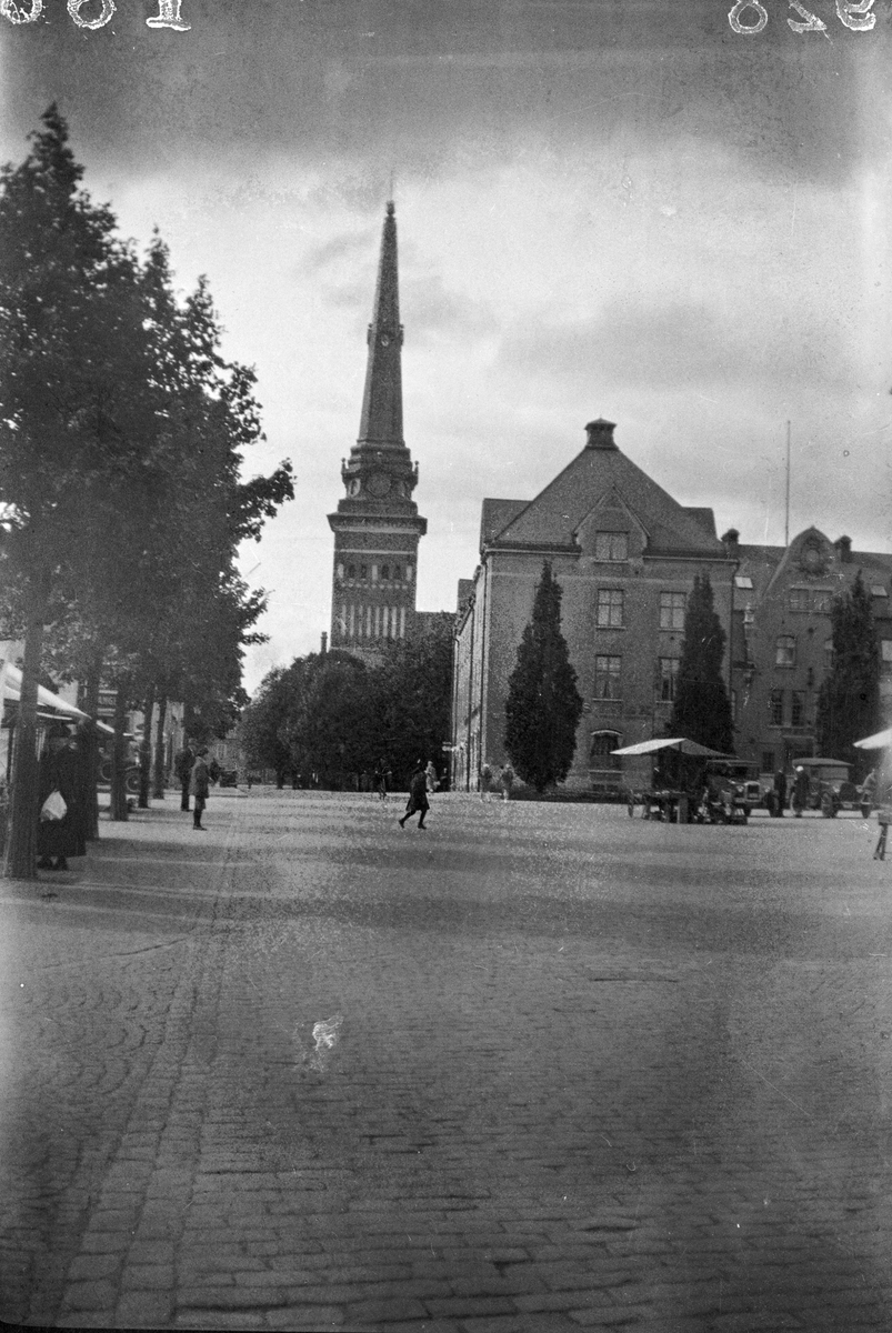
M 724 648 L 725 632 L 715 609 L 709 575 L 695 575 L 684 616 L 684 643 L 668 729 L 672 736 L 687 736 L 709 749 L 731 754 L 733 722 L 721 674 Z

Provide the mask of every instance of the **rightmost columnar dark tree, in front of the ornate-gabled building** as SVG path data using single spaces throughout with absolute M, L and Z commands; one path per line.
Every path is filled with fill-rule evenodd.
M 817 694 L 817 746 L 828 758 L 861 756 L 853 742 L 880 726 L 880 659 L 861 571 L 831 605 L 833 664 Z

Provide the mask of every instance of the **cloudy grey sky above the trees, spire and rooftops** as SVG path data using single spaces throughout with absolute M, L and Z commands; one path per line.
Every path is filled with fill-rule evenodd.
M 455 609 L 483 499 L 532 499 L 599 416 L 777 544 L 789 421 L 791 536 L 892 551 L 892 0 L 737 3 L 751 33 L 731 0 L 181 0 L 185 32 L 115 4 L 0 15 L 0 160 L 57 101 L 85 188 L 208 276 L 256 368 L 247 473 L 292 459 L 296 499 L 241 552 L 249 690 L 329 628 L 391 195 L 419 609 Z

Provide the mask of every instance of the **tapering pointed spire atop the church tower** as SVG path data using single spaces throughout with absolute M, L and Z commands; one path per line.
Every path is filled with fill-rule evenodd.
M 359 443 L 403 444 L 403 325 L 396 272 L 396 209 L 388 200 L 368 327 L 368 364 Z

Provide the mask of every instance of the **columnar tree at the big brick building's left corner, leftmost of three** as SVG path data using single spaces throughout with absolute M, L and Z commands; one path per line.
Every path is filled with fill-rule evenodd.
M 560 629 L 560 584 L 545 561 L 505 705 L 505 749 L 519 776 L 537 792 L 567 777 L 583 713 L 576 672 Z

